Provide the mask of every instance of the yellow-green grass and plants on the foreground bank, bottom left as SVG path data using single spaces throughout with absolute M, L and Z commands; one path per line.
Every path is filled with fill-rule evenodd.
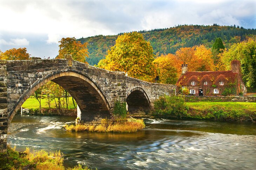
M 15 147 L 8 147 L 6 153 L 0 153 L 0 169 L 89 170 L 81 165 L 65 168 L 63 160 L 63 154 L 60 151 L 55 153 L 47 153 L 45 150 L 31 152 L 27 148 L 24 152 L 18 152 L 15 151 Z

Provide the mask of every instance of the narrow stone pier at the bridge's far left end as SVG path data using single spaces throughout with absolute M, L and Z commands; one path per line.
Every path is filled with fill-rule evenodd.
M 7 149 L 7 84 L 6 60 L 0 60 L 0 153 Z

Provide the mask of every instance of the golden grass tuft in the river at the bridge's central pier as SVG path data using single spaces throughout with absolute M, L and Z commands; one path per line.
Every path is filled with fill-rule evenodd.
M 116 120 L 102 119 L 98 126 L 89 125 L 65 125 L 67 131 L 89 131 L 89 132 L 137 132 L 145 128 L 142 119 L 135 118 L 119 118 Z

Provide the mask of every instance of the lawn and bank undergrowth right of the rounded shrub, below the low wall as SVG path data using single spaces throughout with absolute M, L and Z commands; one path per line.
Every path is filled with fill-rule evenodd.
M 249 102 L 186 102 L 187 117 L 215 120 L 256 119 L 256 103 Z

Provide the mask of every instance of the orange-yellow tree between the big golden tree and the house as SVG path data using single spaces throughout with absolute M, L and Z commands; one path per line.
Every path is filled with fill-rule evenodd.
M 174 54 L 167 54 L 157 57 L 153 63 L 156 64 L 159 83 L 176 84 L 181 73 L 181 60 Z

